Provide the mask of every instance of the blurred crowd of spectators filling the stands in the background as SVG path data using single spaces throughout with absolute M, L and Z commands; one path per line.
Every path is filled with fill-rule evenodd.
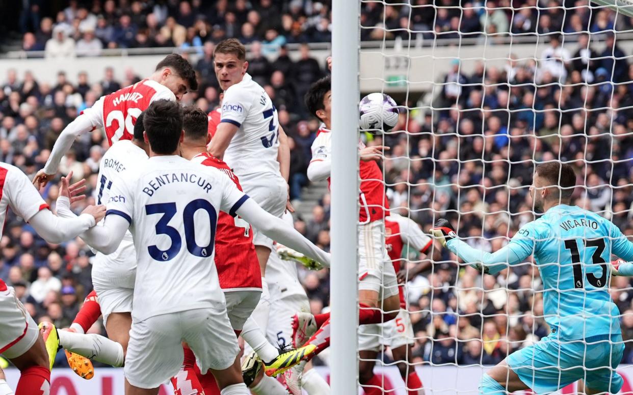
M 44 1 L 22 3 L 15 28 L 23 35 L 25 51 L 72 56 L 112 47 L 194 48 L 197 56 L 190 59 L 199 73 L 199 90 L 183 102 L 205 111 L 218 106 L 220 93 L 213 72 L 214 43 L 239 37 L 252 44 L 249 73 L 265 87 L 291 137 L 291 198 L 298 206 L 304 204 L 302 193 L 313 187 L 306 169 L 319 123 L 304 108 L 303 95 L 327 70 L 308 45 L 298 49 L 299 60 L 293 61 L 285 44 L 328 42 L 329 1 L 71 0 L 61 2 L 64 6 L 55 13 Z M 528 196 L 534 161 L 560 159 L 573 161 L 576 169 L 575 204 L 601 212 L 633 236 L 632 54 L 620 49 L 622 39 L 611 32 L 629 28 L 630 19 L 618 17 L 615 25 L 615 13 L 591 12 L 584 0 L 489 0 L 487 9 L 476 0 L 436 1 L 446 7 L 461 4 L 461 19 L 459 8 L 435 8 L 432 0 L 411 3 L 417 7 L 362 3 L 361 23 L 368 27 L 361 30 L 363 39 L 408 39 L 399 28 L 434 31 L 437 37 L 450 37 L 453 30 L 475 36 L 483 31 L 561 35 L 548 35 L 538 62 L 511 57 L 505 67 L 479 63 L 465 73 L 460 61 L 454 61 L 436 85 L 431 101 L 436 111 L 422 111 L 415 100 L 394 96 L 411 108 L 401 111 L 394 131 L 361 135 L 369 145 L 391 148 L 380 165 L 392 209 L 425 231 L 437 217 L 448 217 L 468 243 L 494 252 L 535 218 Z M 503 8 L 510 5 L 541 8 Z M 585 30 L 606 31 L 600 36 L 606 49 L 594 50 L 594 36 L 577 33 Z M 570 33 L 579 42 L 575 53 L 561 46 Z M 124 78 L 115 78 L 117 74 Z M 0 76 L 0 161 L 33 176 L 82 109 L 142 77 L 131 69 L 115 74 L 107 67 L 80 73 L 77 83 L 68 82 L 63 71 L 55 83 L 39 81 L 28 68 Z M 61 174 L 73 171 L 75 181 L 86 178 L 94 189 L 106 149 L 102 131 L 85 135 L 63 159 Z M 316 190 L 316 204 L 295 217 L 295 226 L 328 250 L 330 196 L 323 188 Z M 58 191 L 56 183 L 41 191 L 53 209 Z M 92 202 L 89 197 L 85 204 Z M 11 212 L 3 234 L 0 277 L 16 288 L 36 320 L 68 326 L 92 289 L 91 250 L 80 240 L 48 244 Z M 423 257 L 409 250 L 404 257 L 411 260 L 404 270 L 411 274 L 406 298 L 417 362 L 494 364 L 548 334 L 539 272 L 529 262 L 482 277 L 470 267 L 460 269 L 451 262 L 456 258 L 443 252 L 442 262 L 432 270 L 413 275 L 415 262 Z M 328 272 L 301 270 L 301 281 L 313 313 L 327 308 Z M 624 338 L 633 339 L 633 288 L 624 277 L 617 277 L 612 287 L 613 300 L 625 314 Z M 99 323 L 92 330 L 103 332 Z M 623 362 L 633 362 L 632 349 L 633 343 L 627 343 Z M 384 357 L 389 360 L 388 351 Z

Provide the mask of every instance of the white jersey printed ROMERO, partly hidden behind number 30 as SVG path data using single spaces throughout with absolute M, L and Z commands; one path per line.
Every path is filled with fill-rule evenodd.
M 130 140 L 121 140 L 113 144 L 99 162 L 97 187 L 94 200 L 97 204 L 106 204 L 110 200 L 113 183 L 117 183 L 125 171 L 138 171 L 147 161 L 147 153 Z M 103 220 L 101 221 L 103 223 Z M 132 240 L 128 230 L 123 240 Z

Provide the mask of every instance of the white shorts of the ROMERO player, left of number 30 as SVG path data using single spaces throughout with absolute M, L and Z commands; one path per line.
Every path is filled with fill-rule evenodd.
M 136 280 L 136 250 L 132 240 L 123 239 L 110 255 L 97 253 L 92 264 L 92 286 L 99 298 L 103 324 L 110 313 L 132 312 Z

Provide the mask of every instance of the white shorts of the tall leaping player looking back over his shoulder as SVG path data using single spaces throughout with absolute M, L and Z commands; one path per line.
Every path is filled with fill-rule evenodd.
M 253 198 L 262 209 L 281 218 L 288 200 L 288 184 L 281 174 L 246 174 L 239 176 L 239 183 L 244 193 Z M 253 244 L 273 249 L 273 240 L 256 228 L 253 228 Z

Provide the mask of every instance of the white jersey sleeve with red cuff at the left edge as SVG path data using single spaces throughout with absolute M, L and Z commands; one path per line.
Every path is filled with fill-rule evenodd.
M 0 162 L 0 230 L 4 229 L 4 219 L 9 207 L 16 216 L 27 222 L 40 210 L 48 209 L 48 205 L 22 170 Z

